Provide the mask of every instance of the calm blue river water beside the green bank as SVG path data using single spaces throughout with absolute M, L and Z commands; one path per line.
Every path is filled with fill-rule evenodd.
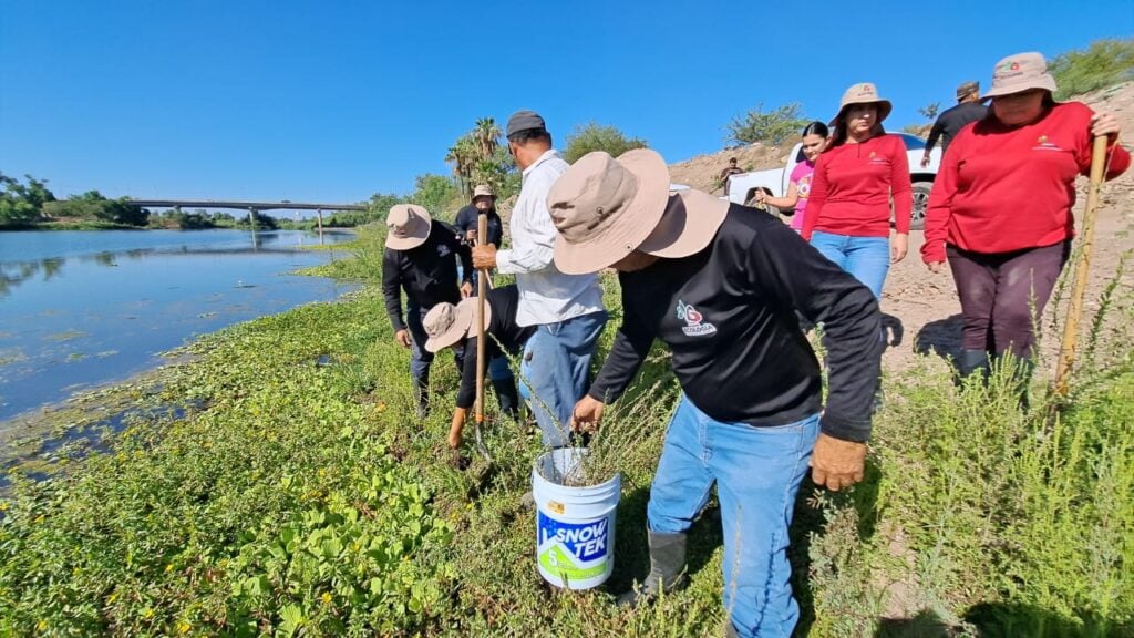
M 0 233 L 0 421 L 161 363 L 156 355 L 352 286 L 290 272 L 350 233 Z

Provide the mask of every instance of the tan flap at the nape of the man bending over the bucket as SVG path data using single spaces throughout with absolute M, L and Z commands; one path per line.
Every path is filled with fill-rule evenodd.
M 682 191 L 669 196 L 666 213 L 637 250 L 677 259 L 708 246 L 725 223 L 729 202 L 702 191 Z

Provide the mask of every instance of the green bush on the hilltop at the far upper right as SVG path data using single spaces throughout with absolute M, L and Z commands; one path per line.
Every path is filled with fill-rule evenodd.
M 1049 69 L 1057 100 L 1134 79 L 1134 37 L 1095 40 L 1085 50 L 1057 56 Z

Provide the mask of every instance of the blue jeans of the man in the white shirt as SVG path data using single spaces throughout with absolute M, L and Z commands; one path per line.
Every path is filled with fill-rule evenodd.
M 548 447 L 570 443 L 570 415 L 586 394 L 591 355 L 606 325 L 604 310 L 545 324 L 524 345 L 519 394 L 532 406 Z

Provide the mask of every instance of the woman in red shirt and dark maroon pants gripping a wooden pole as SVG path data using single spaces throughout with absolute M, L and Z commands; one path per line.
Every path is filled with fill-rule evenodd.
M 1032 309 L 1043 312 L 1070 253 L 1075 178 L 1090 171 L 1091 138 L 1110 141 L 1108 179 L 1131 162 L 1112 115 L 1057 103 L 1055 90 L 1043 56 L 1000 60 L 982 98 L 992 100 L 989 115 L 949 144 L 930 194 L 922 260 L 939 272 L 948 259 L 957 283 L 962 376 L 987 371 L 990 353 L 1031 359 Z

